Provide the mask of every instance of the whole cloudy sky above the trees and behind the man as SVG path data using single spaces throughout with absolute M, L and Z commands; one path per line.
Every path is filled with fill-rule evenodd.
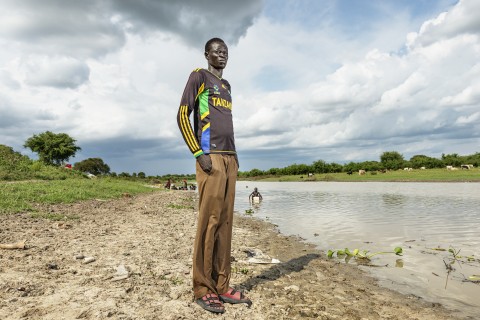
M 480 152 L 477 0 L 2 0 L 0 144 L 45 131 L 116 173 L 194 173 L 176 122 L 229 47 L 240 171 Z

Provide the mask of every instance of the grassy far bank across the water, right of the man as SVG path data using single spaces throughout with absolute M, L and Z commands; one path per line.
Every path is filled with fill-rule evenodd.
M 480 182 L 480 169 L 470 170 L 446 170 L 446 169 L 427 169 L 427 170 L 413 170 L 413 171 L 389 171 L 381 172 L 367 172 L 365 175 L 359 175 L 354 172 L 348 175 L 345 172 L 341 173 L 317 173 L 313 177 L 307 175 L 288 175 L 288 176 L 267 176 L 255 177 L 255 181 L 342 181 L 342 182 Z

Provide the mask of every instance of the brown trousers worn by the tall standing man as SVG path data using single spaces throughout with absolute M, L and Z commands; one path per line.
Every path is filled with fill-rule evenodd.
M 230 282 L 233 205 L 238 167 L 233 155 L 211 154 L 212 171 L 197 162 L 199 193 L 197 234 L 193 248 L 193 293 L 223 294 Z

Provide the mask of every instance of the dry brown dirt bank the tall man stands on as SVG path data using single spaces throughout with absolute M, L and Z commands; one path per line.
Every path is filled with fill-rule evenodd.
M 27 240 L 26 249 L 0 249 L 0 319 L 460 319 L 240 215 L 231 285 L 253 306 L 204 311 L 191 291 L 195 196 L 165 191 L 42 208 L 73 218 L 61 222 L 0 216 L 0 243 Z M 258 250 L 280 263 L 249 262 Z

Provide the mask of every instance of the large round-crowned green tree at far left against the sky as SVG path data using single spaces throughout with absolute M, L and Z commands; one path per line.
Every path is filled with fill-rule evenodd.
M 75 142 L 76 140 L 66 133 L 45 131 L 28 138 L 23 146 L 38 153 L 40 161 L 45 164 L 60 166 L 81 150 Z

